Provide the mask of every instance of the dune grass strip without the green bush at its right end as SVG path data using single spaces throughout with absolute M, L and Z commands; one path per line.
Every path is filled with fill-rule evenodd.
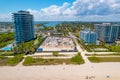
M 32 58 L 27 57 L 23 63 L 25 66 L 29 65 L 57 65 L 57 64 L 69 64 L 71 63 L 70 59 L 43 59 L 43 58 Z

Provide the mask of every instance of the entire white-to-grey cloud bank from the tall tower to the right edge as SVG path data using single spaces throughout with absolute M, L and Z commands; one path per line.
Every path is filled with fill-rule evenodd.
M 35 20 L 116 20 L 120 21 L 120 0 L 75 0 L 40 10 L 27 9 Z

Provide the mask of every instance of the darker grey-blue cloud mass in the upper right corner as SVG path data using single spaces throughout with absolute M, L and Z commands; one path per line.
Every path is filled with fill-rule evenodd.
M 120 14 L 118 0 L 76 0 L 71 7 L 76 15 L 109 15 Z

